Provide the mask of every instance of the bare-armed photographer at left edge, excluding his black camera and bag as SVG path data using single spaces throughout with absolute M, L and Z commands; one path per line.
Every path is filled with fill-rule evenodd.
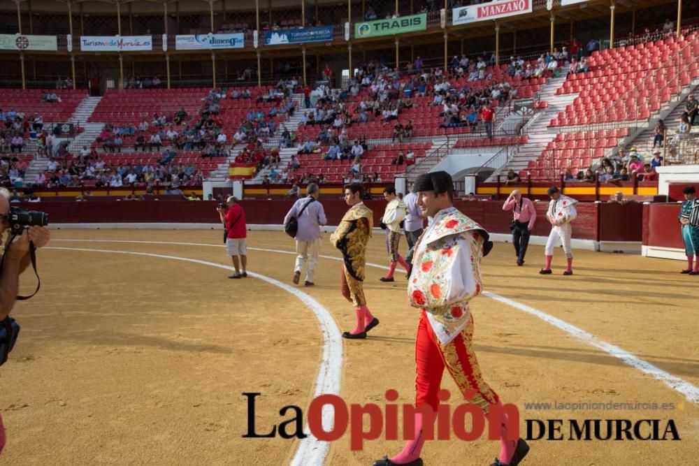
M 0 235 L 9 228 L 8 219 L 10 214 L 10 192 L 0 189 Z M 48 228 L 43 226 L 30 226 L 24 229 L 21 235 L 17 235 L 10 242 L 11 235 L 5 242 L 5 250 L 1 259 L 2 268 L 0 270 L 0 319 L 6 319 L 10 315 L 15 300 L 17 299 L 17 289 L 19 288 L 20 274 L 29 267 L 31 263 L 29 255 L 29 244 L 34 244 L 36 249 L 44 247 L 50 239 Z M 5 446 L 5 428 L 2 417 L 0 417 L 0 453 Z

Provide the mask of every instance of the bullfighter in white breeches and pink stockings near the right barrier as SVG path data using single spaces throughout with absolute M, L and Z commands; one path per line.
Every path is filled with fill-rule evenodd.
M 575 199 L 563 196 L 561 190 L 553 186 L 549 188 L 549 210 L 546 212 L 546 218 L 551 222 L 551 233 L 549 240 L 546 242 L 544 254 L 546 255 L 546 266 L 539 273 L 549 275 L 552 273 L 551 261 L 554 259 L 554 247 L 559 242 L 563 242 L 563 252 L 568 259 L 568 268 L 565 269 L 563 275 L 572 275 L 572 249 L 570 249 L 570 237 L 572 236 L 571 222 L 577 217 L 575 210 Z

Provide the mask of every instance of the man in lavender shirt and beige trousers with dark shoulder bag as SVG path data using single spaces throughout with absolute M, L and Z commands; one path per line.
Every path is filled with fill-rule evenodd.
M 291 210 L 284 217 L 284 225 L 292 217 L 298 221 L 298 230 L 296 231 L 296 264 L 294 265 L 294 284 L 298 285 L 301 280 L 301 272 L 303 265 L 308 261 L 308 269 L 306 270 L 306 279 L 303 283 L 305 286 L 313 286 L 313 276 L 315 268 L 318 265 L 318 256 L 320 254 L 320 226 L 328 223 L 325 217 L 323 205 L 318 201 L 320 191 L 318 185 L 310 183 L 306 187 L 308 197 L 299 199 L 291 206 Z

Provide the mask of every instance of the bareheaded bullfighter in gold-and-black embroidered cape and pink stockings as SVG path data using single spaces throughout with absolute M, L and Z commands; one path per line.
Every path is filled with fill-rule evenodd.
M 366 266 L 366 243 L 371 237 L 374 214 L 361 201 L 366 194 L 361 183 L 345 184 L 345 203 L 349 210 L 340 221 L 330 242 L 343 254 L 341 290 L 345 299 L 354 305 L 356 326 L 351 332 L 343 333 L 350 340 L 366 338 L 366 333 L 379 324 L 366 307 L 363 281 Z

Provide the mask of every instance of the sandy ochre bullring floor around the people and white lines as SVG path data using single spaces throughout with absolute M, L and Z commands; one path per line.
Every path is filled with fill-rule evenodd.
M 228 270 L 138 252 L 230 265 L 220 231 L 54 231 L 38 254 L 41 292 L 17 303 L 22 333 L 0 368 L 0 412 L 8 444 L 3 465 L 287 465 L 298 442 L 245 439 L 247 400 L 261 392 L 257 430 L 268 432 L 285 405 L 308 407 L 322 358 L 314 314 L 261 279 L 226 278 Z M 324 235 L 322 254 L 338 257 Z M 201 245 L 89 242 L 133 240 Z M 401 251 L 405 251 L 402 240 Z M 215 247 L 208 247 L 213 245 Z M 281 232 L 250 232 L 249 270 L 291 284 L 293 242 Z M 496 244 L 484 259 L 485 289 L 528 305 L 614 344 L 642 361 L 699 386 L 696 336 L 699 278 L 679 275 L 684 263 L 640 256 L 575 252 L 575 275 L 542 277 L 542 247 L 514 266 L 512 245 Z M 369 261 L 387 265 L 384 241 L 370 242 Z M 329 310 L 340 330 L 354 313 L 340 296 L 340 262 L 322 259 L 316 286 L 297 287 Z M 399 403 L 415 395 L 418 312 L 406 304 L 405 277 L 379 282 L 368 268 L 368 305 L 381 320 L 364 341 L 343 341 L 340 394 L 348 403 Z M 303 277 L 302 277 L 303 279 Z M 33 289 L 26 272 L 22 292 Z M 294 286 L 291 284 L 291 286 Z M 524 419 L 673 419 L 681 441 L 529 442 L 522 465 L 695 465 L 699 405 L 561 328 L 482 296 L 473 302 L 475 349 L 485 379 Z M 445 374 L 452 404 L 456 387 Z M 535 410 L 529 402 L 674 403 L 665 410 Z M 305 421 L 305 420 L 304 420 Z M 664 426 L 664 421 L 662 423 Z M 563 428 L 567 434 L 568 425 Z M 349 435 L 331 444 L 326 465 L 370 465 L 402 441 L 349 449 Z M 489 465 L 499 442 L 428 442 L 426 465 Z

